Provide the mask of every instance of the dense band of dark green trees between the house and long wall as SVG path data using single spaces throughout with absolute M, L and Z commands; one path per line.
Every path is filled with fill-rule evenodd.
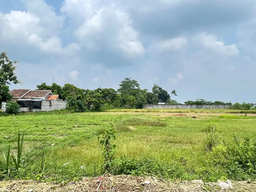
M 134 108 L 142 109 L 145 104 L 157 104 L 166 102 L 167 104 L 177 104 L 172 100 L 170 94 L 154 84 L 152 92 L 147 89 L 141 89 L 138 81 L 126 77 L 120 84 L 118 90 L 113 88 L 97 88 L 88 90 L 77 88 L 74 84 L 65 84 L 63 87 L 56 83 L 47 85 L 38 84 L 37 90 L 51 90 L 52 93 L 59 95 L 60 99 L 67 100 L 67 108 L 79 112 L 88 109 L 100 111 L 101 109 L 111 108 Z M 177 95 L 175 90 L 171 95 Z

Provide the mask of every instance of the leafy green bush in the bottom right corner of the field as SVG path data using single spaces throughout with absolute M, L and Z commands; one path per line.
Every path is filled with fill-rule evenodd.
M 225 170 L 230 179 L 256 179 L 256 141 L 234 136 L 232 143 L 214 148 L 210 158 L 215 166 Z

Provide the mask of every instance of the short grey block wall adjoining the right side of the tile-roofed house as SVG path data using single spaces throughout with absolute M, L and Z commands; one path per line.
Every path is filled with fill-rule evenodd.
M 67 101 L 65 100 L 42 100 L 42 111 L 53 111 L 65 109 Z

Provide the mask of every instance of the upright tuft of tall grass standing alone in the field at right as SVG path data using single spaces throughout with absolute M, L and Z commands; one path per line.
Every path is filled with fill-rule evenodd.
M 220 136 L 215 125 L 209 125 L 205 129 L 205 135 L 203 138 L 205 150 L 212 151 L 213 147 L 216 147 L 220 143 Z

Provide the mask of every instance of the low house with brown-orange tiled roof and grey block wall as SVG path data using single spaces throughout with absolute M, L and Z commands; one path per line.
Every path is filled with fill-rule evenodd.
M 20 105 L 20 112 L 24 111 L 53 111 L 65 109 L 67 102 L 60 100 L 59 95 L 53 95 L 50 90 L 12 90 L 12 100 Z

